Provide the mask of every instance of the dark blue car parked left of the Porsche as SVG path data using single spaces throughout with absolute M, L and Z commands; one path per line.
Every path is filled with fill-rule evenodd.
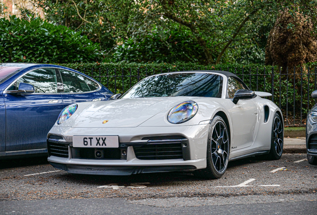
M 63 108 L 112 95 L 96 80 L 66 67 L 0 64 L 0 159 L 45 155 L 46 135 Z

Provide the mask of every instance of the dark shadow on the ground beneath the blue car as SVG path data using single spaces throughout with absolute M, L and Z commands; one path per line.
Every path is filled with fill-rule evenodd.
M 41 165 L 41 164 L 48 164 L 46 156 L 0 160 L 0 169 L 26 167 L 26 166 Z

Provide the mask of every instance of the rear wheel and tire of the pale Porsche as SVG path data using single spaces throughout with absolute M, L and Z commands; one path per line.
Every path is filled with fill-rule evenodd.
M 281 117 L 278 113 L 274 114 L 272 124 L 271 149 L 269 159 L 279 160 L 283 154 L 284 129 Z

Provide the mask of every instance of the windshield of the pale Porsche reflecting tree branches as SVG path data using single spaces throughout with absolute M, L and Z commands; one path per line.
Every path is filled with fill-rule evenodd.
M 220 75 L 209 73 L 156 75 L 143 79 L 122 98 L 177 96 L 221 98 L 222 80 Z

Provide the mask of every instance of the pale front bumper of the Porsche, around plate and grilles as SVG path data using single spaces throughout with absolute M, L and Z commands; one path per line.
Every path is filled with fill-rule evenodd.
M 134 127 L 134 128 L 66 128 L 53 127 L 48 137 L 61 136 L 68 143 L 68 156 L 49 156 L 50 164 L 61 170 L 75 174 L 131 175 L 137 173 L 193 171 L 206 168 L 206 148 L 209 124 L 179 127 Z M 120 146 L 126 147 L 126 155 L 117 159 L 83 159 L 74 156 L 73 135 L 118 135 Z M 135 145 L 144 142 L 145 137 L 176 136 L 182 139 L 182 159 L 138 159 Z M 187 143 L 184 150 L 183 142 Z M 49 150 L 49 149 L 48 149 Z M 123 149 L 121 149 L 122 152 Z

